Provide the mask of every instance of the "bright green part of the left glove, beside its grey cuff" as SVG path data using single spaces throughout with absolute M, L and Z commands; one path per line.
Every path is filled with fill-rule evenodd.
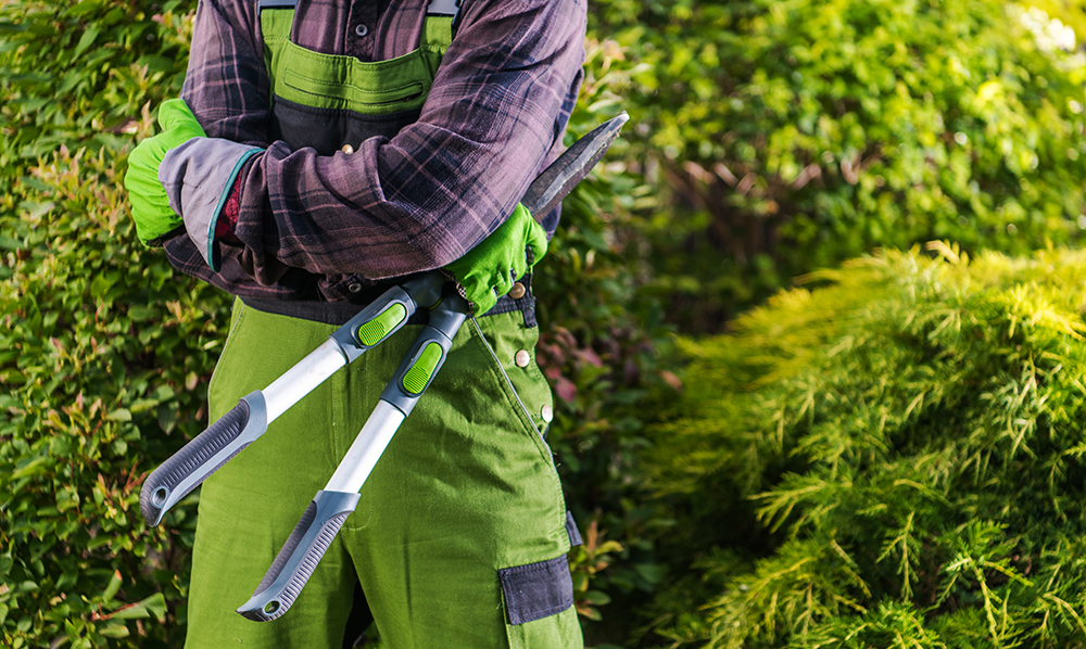
M 192 111 L 181 99 L 172 99 L 159 107 L 162 132 L 148 138 L 128 156 L 125 188 L 132 205 L 132 219 L 140 241 L 149 243 L 181 225 L 181 217 L 169 208 L 166 190 L 159 181 L 159 165 L 171 149 L 192 138 L 206 137 Z

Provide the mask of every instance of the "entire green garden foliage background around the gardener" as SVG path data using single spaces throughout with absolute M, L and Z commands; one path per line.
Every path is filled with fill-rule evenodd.
M 209 423 L 228 298 L 119 179 L 194 7 L 0 0 L 4 646 L 184 636 L 199 496 L 136 504 Z M 1084 3 L 589 11 L 568 141 L 632 119 L 538 356 L 590 646 L 1081 645 Z

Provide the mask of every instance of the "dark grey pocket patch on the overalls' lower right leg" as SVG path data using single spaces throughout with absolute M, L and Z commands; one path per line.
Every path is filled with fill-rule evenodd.
M 566 556 L 497 571 L 509 624 L 556 615 L 573 606 L 573 578 Z

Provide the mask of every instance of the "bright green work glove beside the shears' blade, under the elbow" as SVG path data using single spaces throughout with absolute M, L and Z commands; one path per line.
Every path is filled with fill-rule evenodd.
M 526 249 L 532 252 L 530 265 Z M 475 304 L 475 315 L 481 316 L 494 308 L 497 296 L 508 293 L 515 279 L 523 277 L 545 254 L 546 231 L 518 203 L 501 227 L 445 269 L 456 276 L 468 302 Z

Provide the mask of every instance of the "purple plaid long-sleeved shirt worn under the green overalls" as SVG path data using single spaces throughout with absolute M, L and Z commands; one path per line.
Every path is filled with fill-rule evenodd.
M 300 0 L 292 40 L 392 59 L 418 46 L 427 3 Z M 171 262 L 237 295 L 336 301 L 351 284 L 460 257 L 558 155 L 582 78 L 585 13 L 585 0 L 464 0 L 418 122 L 352 155 L 318 156 L 268 141 L 256 0 L 201 0 L 181 97 L 209 137 L 267 151 L 239 176 L 241 245 L 223 246 L 222 271 L 184 234 L 166 243 Z

